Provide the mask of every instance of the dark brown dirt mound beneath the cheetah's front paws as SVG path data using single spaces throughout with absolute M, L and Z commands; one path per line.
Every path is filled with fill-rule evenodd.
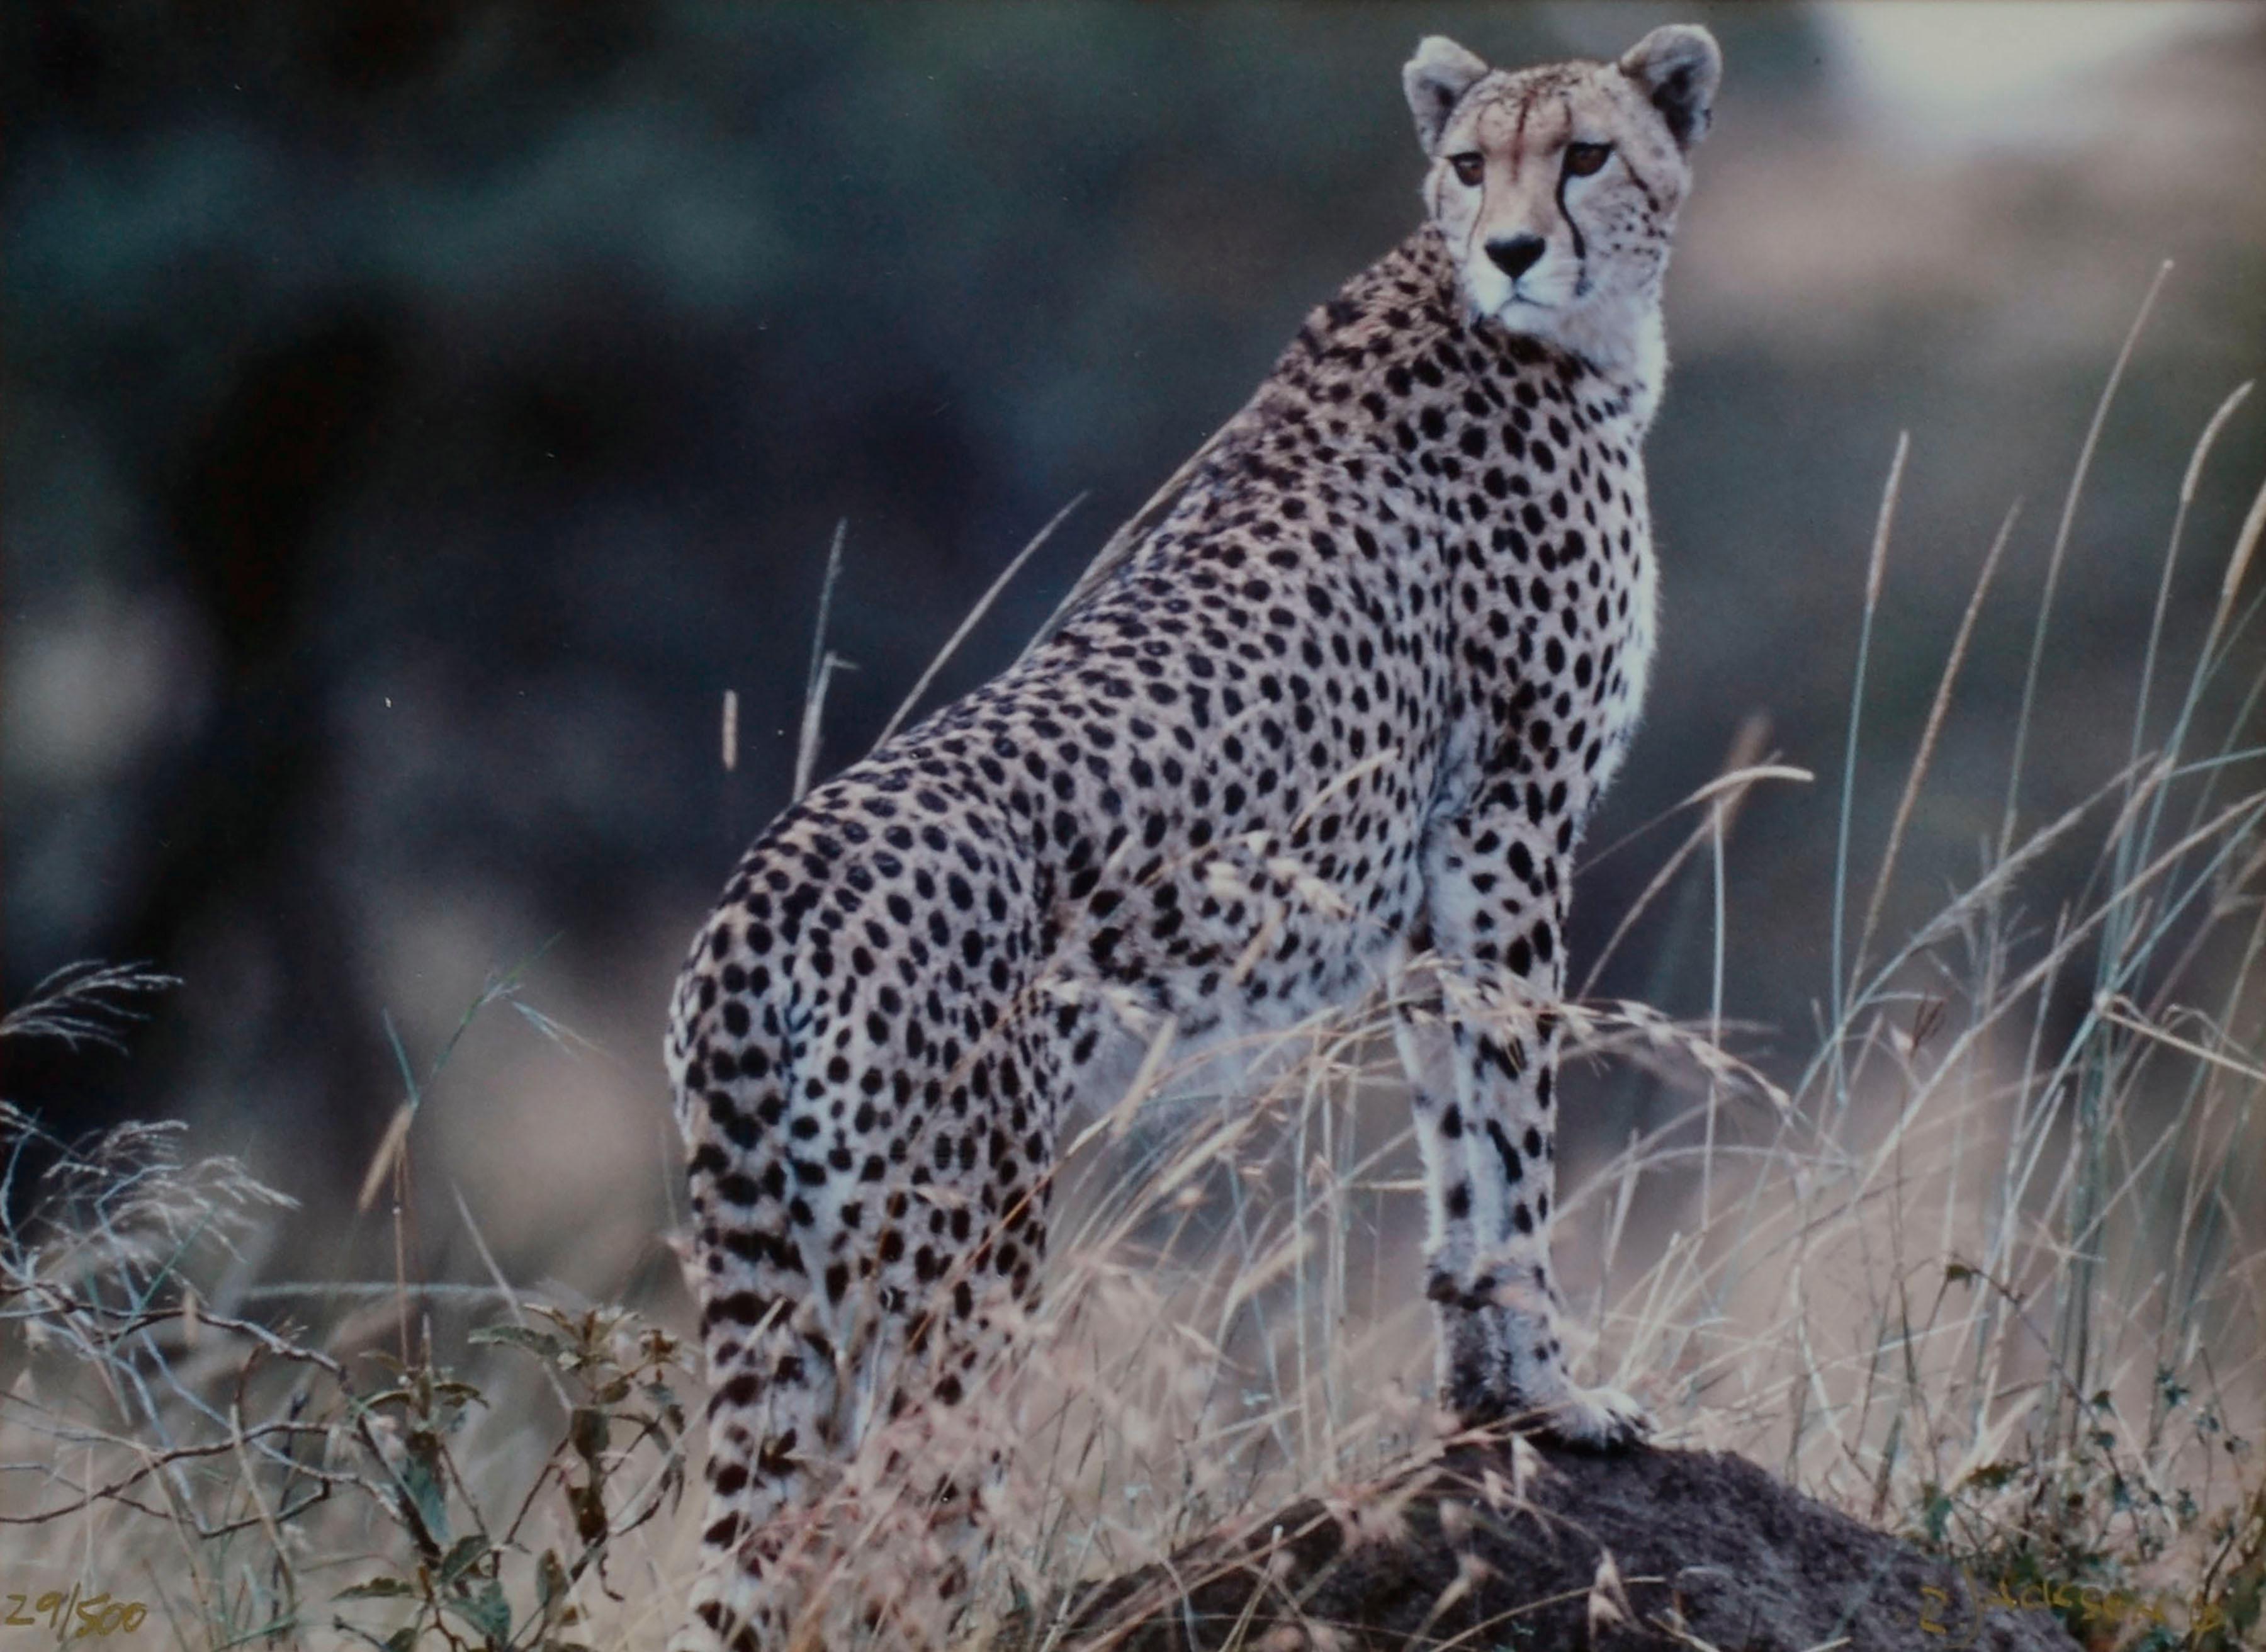
M 1720 1453 L 1457 1448 L 1097 1586 L 1056 1645 L 2076 1652 L 2044 1611 Z

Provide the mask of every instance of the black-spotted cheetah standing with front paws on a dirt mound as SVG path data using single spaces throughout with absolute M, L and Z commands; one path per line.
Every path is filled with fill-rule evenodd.
M 1158 1027 L 1391 988 L 1441 1403 L 1647 1434 L 1566 1371 L 1552 1004 L 1654 646 L 1641 446 L 1720 70 L 1688 25 L 1525 70 L 1425 39 L 1423 224 L 1013 669 L 739 861 L 666 1040 L 714 1385 L 680 1645 L 775 1643 L 775 1516 L 963 1398 L 1040 1289 L 1065 1108 Z

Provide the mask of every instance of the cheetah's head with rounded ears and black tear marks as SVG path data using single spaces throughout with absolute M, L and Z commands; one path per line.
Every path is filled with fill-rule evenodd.
M 1475 315 L 1600 365 L 1659 356 L 1659 290 L 1715 36 L 1654 29 L 1618 63 L 1491 70 L 1439 34 L 1400 70 L 1432 159 L 1423 197 Z

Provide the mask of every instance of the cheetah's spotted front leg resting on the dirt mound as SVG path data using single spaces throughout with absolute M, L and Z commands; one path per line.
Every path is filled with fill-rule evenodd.
M 1613 1448 L 1652 1423 L 1629 1396 L 1568 1380 L 1550 1274 L 1568 877 L 1536 816 L 1500 784 L 1425 843 L 1437 993 L 1403 1006 L 1398 1045 L 1425 1156 L 1428 1292 L 1446 1405 Z

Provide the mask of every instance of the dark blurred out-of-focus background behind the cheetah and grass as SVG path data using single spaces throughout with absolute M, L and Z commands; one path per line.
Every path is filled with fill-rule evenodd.
M 1527 61 L 1690 16 L 1729 73 L 1670 276 L 1663 653 L 1591 841 L 1772 718 L 1820 784 L 1738 823 L 1724 1008 L 1781 1029 L 1765 1061 L 1799 1051 L 1897 433 L 1860 893 L 2028 501 L 1903 934 L 1996 834 L 2060 489 L 2173 258 L 2076 519 L 2024 820 L 2123 761 L 2187 453 L 2266 363 L 2266 11 L 14 0 L 5 999 L 84 956 L 184 986 L 129 1056 L 11 1047 L 5 1092 L 61 1129 L 195 1117 L 315 1194 L 401 1097 L 387 1029 L 424 1074 L 523 965 L 591 1047 L 492 1006 L 419 1129 L 499 1244 L 634 1249 L 673 1178 L 671 977 L 786 800 L 836 519 L 829 646 L 857 669 L 825 766 L 1090 494 L 936 700 L 1008 662 L 1301 313 L 1416 222 L 1419 34 Z M 2239 412 L 2203 478 L 2182 680 L 2261 433 Z M 1670 843 L 1586 879 L 1577 974 Z M 1704 1011 L 1706 911 L 1686 879 L 1598 990 Z

